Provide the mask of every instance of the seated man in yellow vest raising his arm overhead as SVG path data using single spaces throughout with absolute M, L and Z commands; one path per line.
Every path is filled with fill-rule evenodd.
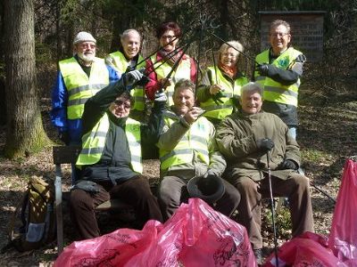
M 71 190 L 71 218 L 82 239 L 100 235 L 95 206 L 110 198 L 134 207 L 138 228 L 150 219 L 162 222 L 157 200 L 142 175 L 141 154 L 142 148 L 158 140 L 166 99 L 155 101 L 148 125 L 129 118 L 132 98 L 127 88 L 142 77 L 133 70 L 86 102 L 82 150 L 76 163 L 82 175 Z

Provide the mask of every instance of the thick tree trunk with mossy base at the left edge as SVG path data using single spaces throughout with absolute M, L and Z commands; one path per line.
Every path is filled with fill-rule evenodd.
M 21 158 L 49 144 L 36 88 L 33 0 L 6 0 L 5 72 L 7 130 L 4 154 Z

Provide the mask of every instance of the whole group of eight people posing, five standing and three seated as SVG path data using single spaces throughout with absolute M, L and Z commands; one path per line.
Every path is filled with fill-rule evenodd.
M 119 51 L 104 60 L 95 57 L 95 38 L 79 32 L 74 56 L 59 62 L 51 116 L 62 142 L 82 147 L 71 190 L 81 239 L 100 235 L 95 206 L 110 198 L 134 207 L 140 229 L 150 219 L 168 220 L 190 197 L 191 179 L 215 177 L 225 190 L 212 206 L 227 216 L 237 210 L 259 261 L 268 169 L 274 196 L 288 198 L 293 236 L 313 231 L 309 179 L 297 173 L 295 141 L 305 57 L 290 45 L 289 24 L 271 23 L 271 47 L 256 57 L 254 82 L 238 68 L 244 48 L 237 41 L 220 46 L 217 65 L 195 85 L 198 68 L 179 49 L 179 25 L 165 22 L 156 36 L 160 47 L 146 61 L 135 29 L 125 30 Z M 147 100 L 154 106 L 144 123 Z M 142 155 L 154 146 L 157 196 L 142 174 Z

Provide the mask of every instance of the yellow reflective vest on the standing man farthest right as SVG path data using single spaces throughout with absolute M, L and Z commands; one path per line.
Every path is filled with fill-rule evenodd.
M 255 61 L 260 64 L 269 64 L 269 49 L 256 56 Z M 295 59 L 302 54 L 289 47 L 286 51 L 278 56 L 271 64 L 279 69 L 288 69 Z M 281 85 L 270 77 L 262 77 L 258 71 L 254 73 L 255 80 L 264 87 L 263 98 L 266 101 L 273 101 L 297 107 L 297 96 L 300 86 L 300 79 L 293 85 Z

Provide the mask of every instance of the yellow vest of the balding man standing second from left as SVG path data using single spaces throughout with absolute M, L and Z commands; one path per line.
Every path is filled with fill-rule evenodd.
M 124 73 L 128 69 L 128 60 L 125 58 L 124 54 L 117 51 L 109 54 L 112 57 L 114 68 L 120 72 Z M 137 62 L 140 62 L 137 65 L 136 69 L 145 68 L 145 61 L 143 61 L 143 57 L 139 55 Z M 144 86 L 135 87 L 135 89 L 130 91 L 130 94 L 134 97 L 134 106 L 131 109 L 136 109 L 143 111 L 145 109 L 145 90 Z

